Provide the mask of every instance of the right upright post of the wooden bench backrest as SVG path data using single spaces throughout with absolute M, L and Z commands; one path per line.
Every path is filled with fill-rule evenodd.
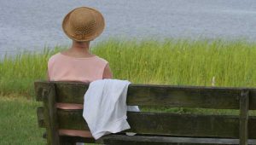
M 249 91 L 242 90 L 240 97 L 240 144 L 247 145 Z

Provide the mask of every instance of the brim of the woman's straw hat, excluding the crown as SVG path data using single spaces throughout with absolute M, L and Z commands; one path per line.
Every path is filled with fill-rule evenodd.
M 84 36 L 83 38 L 76 37 L 75 32 L 73 32 L 73 29 L 71 28 L 70 22 L 69 22 L 69 16 L 75 9 L 73 9 L 71 12 L 69 12 L 65 16 L 65 18 L 63 19 L 62 29 L 63 29 L 63 31 L 65 32 L 65 34 L 67 35 L 68 38 L 71 38 L 71 39 L 73 39 L 75 41 L 78 41 L 78 42 L 85 42 L 85 41 L 93 40 L 93 39 L 97 38 L 98 36 L 100 36 L 102 34 L 102 32 L 105 28 L 105 21 L 104 21 L 103 15 L 99 11 L 97 11 L 96 9 L 91 9 L 91 8 L 88 8 L 88 7 L 79 7 L 77 9 L 81 9 L 81 8 L 91 10 L 92 14 L 95 15 L 95 19 L 96 19 L 95 32 L 90 33 L 90 35 Z

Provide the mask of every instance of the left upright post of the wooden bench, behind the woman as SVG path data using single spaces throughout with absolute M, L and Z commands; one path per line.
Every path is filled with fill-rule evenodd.
M 44 124 L 47 131 L 47 142 L 49 145 L 60 145 L 57 110 L 55 107 L 55 85 L 49 84 L 42 91 L 44 101 Z

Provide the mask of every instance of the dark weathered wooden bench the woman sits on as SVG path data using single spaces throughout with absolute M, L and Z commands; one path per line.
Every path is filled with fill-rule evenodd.
M 46 128 L 48 144 L 97 142 L 103 144 L 166 145 L 166 144 L 256 144 L 256 89 L 212 88 L 171 85 L 130 84 L 128 105 L 140 107 L 191 107 L 234 109 L 235 115 L 127 113 L 131 132 L 103 136 L 98 141 L 88 137 L 60 136 L 61 129 L 89 131 L 82 117 L 83 110 L 61 110 L 56 102 L 84 102 L 89 84 L 67 82 L 35 82 L 38 102 L 38 125 Z

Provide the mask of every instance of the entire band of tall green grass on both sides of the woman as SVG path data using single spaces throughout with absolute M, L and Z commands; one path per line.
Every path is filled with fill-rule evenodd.
M 61 49 L 20 53 L 0 61 L 3 95 L 31 96 L 33 81 L 45 79 L 50 55 Z M 111 38 L 91 48 L 108 60 L 113 77 L 137 84 L 256 86 L 256 43 L 242 40 Z M 214 78 L 214 81 L 212 80 Z

